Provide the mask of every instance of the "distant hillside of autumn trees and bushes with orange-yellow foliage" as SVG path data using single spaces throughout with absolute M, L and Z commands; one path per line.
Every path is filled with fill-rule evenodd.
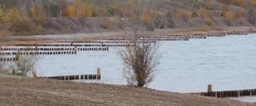
M 256 0 L 145 0 L 159 29 L 255 26 Z M 131 0 L 0 0 L 0 36 L 118 30 Z M 128 12 L 129 13 L 129 12 Z M 129 15 L 125 15 L 129 18 Z

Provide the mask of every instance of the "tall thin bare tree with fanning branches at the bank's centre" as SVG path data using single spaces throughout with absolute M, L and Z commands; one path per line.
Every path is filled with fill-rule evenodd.
M 153 10 L 149 10 L 146 1 L 130 0 L 128 4 L 129 7 L 124 8 L 121 15 L 129 15 L 127 21 L 121 18 L 121 28 L 126 36 L 127 46 L 121 48 L 118 53 L 128 84 L 143 87 L 154 80 L 161 57 L 158 52 L 159 43 L 154 38 L 154 22 L 157 15 L 153 15 Z

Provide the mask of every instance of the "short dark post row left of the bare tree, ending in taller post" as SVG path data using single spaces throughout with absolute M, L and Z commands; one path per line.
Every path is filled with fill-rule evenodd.
M 97 68 L 96 75 L 64 75 L 64 76 L 40 77 L 40 78 L 55 79 L 55 80 L 100 80 L 101 69 Z

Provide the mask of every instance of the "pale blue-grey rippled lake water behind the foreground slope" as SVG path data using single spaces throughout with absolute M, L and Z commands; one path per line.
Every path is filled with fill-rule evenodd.
M 149 88 L 174 92 L 256 88 L 256 34 L 208 37 L 189 42 L 161 42 L 159 71 Z M 81 51 L 77 55 L 43 56 L 37 73 L 42 76 L 96 73 L 102 83 L 125 85 L 117 48 Z

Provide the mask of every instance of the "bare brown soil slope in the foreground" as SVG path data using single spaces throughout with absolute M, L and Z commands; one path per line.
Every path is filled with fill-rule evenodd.
M 256 104 L 155 91 L 148 88 L 0 75 L 0 105 L 250 106 Z

